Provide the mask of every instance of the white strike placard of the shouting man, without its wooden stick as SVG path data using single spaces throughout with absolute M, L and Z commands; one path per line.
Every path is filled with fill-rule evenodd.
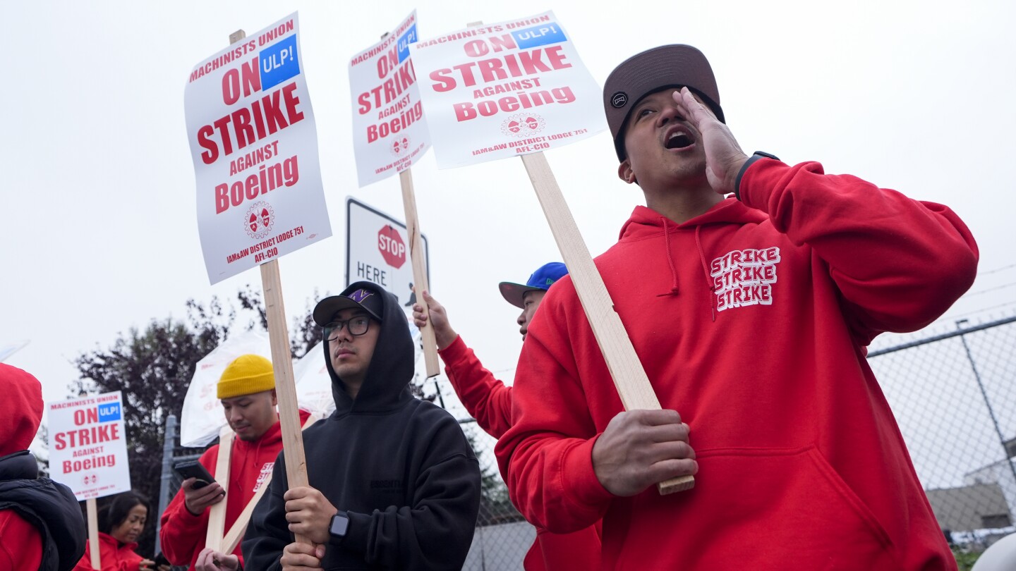
M 599 85 L 553 12 L 410 48 L 441 169 L 538 152 L 607 126 Z

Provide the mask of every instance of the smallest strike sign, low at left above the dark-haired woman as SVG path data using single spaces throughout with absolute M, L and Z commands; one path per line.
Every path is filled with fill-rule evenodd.
M 127 492 L 130 466 L 120 391 L 47 404 L 50 478 L 78 501 Z

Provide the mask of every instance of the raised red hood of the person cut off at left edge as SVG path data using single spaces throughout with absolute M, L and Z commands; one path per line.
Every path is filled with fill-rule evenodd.
M 43 385 L 30 374 L 0 363 L 0 386 L 4 388 L 0 414 L 0 456 L 24 450 L 43 420 Z

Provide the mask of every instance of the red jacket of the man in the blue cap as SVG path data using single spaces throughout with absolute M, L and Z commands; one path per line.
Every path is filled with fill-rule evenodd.
M 465 409 L 487 434 L 501 438 L 511 426 L 511 387 L 494 378 L 462 337 L 455 337 L 438 354 Z M 526 571 L 594 569 L 599 564 L 598 524 L 572 533 L 551 533 L 536 527 L 536 540 L 522 564 Z

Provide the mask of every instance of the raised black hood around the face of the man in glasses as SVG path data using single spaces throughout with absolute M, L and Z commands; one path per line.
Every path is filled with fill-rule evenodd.
M 370 281 L 351 283 L 348 290 L 368 288 L 381 296 L 384 304 L 381 321 L 381 332 L 378 334 L 377 345 L 367 368 L 367 376 L 360 387 L 357 398 L 345 392 L 345 385 L 331 367 L 331 350 L 328 339 L 324 346 L 324 362 L 331 377 L 331 394 L 335 399 L 334 415 L 351 413 L 385 413 L 396 408 L 412 395 L 409 392 L 409 381 L 412 380 L 412 336 L 409 334 L 409 322 L 398 304 L 398 299 L 391 293 L 381 290 Z M 377 323 L 371 323 L 377 327 Z

